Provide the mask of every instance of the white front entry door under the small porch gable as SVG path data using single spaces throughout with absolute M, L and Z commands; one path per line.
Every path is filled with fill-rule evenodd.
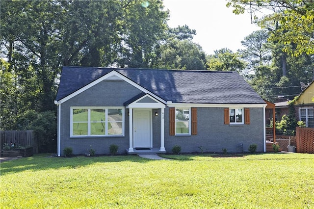
M 134 148 L 151 147 L 151 111 L 134 110 L 133 118 Z

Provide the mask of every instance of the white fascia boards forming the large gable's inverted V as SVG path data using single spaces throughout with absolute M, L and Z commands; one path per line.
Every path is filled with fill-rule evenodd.
M 110 73 L 107 73 L 106 75 L 104 75 L 103 77 L 101 78 L 98 78 L 97 80 L 94 80 L 93 82 L 87 84 L 86 86 L 78 89 L 77 91 L 73 92 L 72 94 L 66 96 L 65 98 L 59 100 L 59 101 L 56 101 L 55 103 L 58 103 L 58 104 L 62 104 L 70 99 L 72 99 L 73 97 L 77 96 L 78 94 L 82 93 L 83 91 L 91 88 L 92 86 L 100 83 L 101 81 L 103 80 L 111 80 L 111 79 L 118 79 L 120 78 L 121 80 L 124 80 L 126 82 L 128 82 L 129 84 L 131 84 L 132 86 L 134 86 L 135 88 L 138 88 L 140 91 L 146 93 L 146 94 L 151 94 L 153 95 L 154 97 L 156 97 L 158 100 L 160 100 L 161 102 L 163 103 L 166 103 L 166 101 L 164 101 L 163 99 L 159 98 L 157 95 L 153 94 L 152 92 L 148 91 L 147 89 L 143 88 L 142 86 L 138 85 L 137 83 L 135 83 L 134 81 L 132 81 L 131 79 L 123 76 L 122 74 L 118 73 L 117 71 L 113 70 L 111 71 Z

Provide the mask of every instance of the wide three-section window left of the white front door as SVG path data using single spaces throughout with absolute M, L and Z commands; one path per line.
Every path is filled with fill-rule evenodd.
M 123 107 L 72 107 L 71 136 L 124 134 Z

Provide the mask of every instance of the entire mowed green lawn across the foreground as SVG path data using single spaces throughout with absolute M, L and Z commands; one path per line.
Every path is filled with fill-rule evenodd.
M 47 157 L 1 163 L 1 208 L 314 208 L 314 155 Z

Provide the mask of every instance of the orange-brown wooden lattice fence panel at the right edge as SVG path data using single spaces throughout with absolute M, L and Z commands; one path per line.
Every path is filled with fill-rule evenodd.
M 314 128 L 296 127 L 296 152 L 314 154 Z

